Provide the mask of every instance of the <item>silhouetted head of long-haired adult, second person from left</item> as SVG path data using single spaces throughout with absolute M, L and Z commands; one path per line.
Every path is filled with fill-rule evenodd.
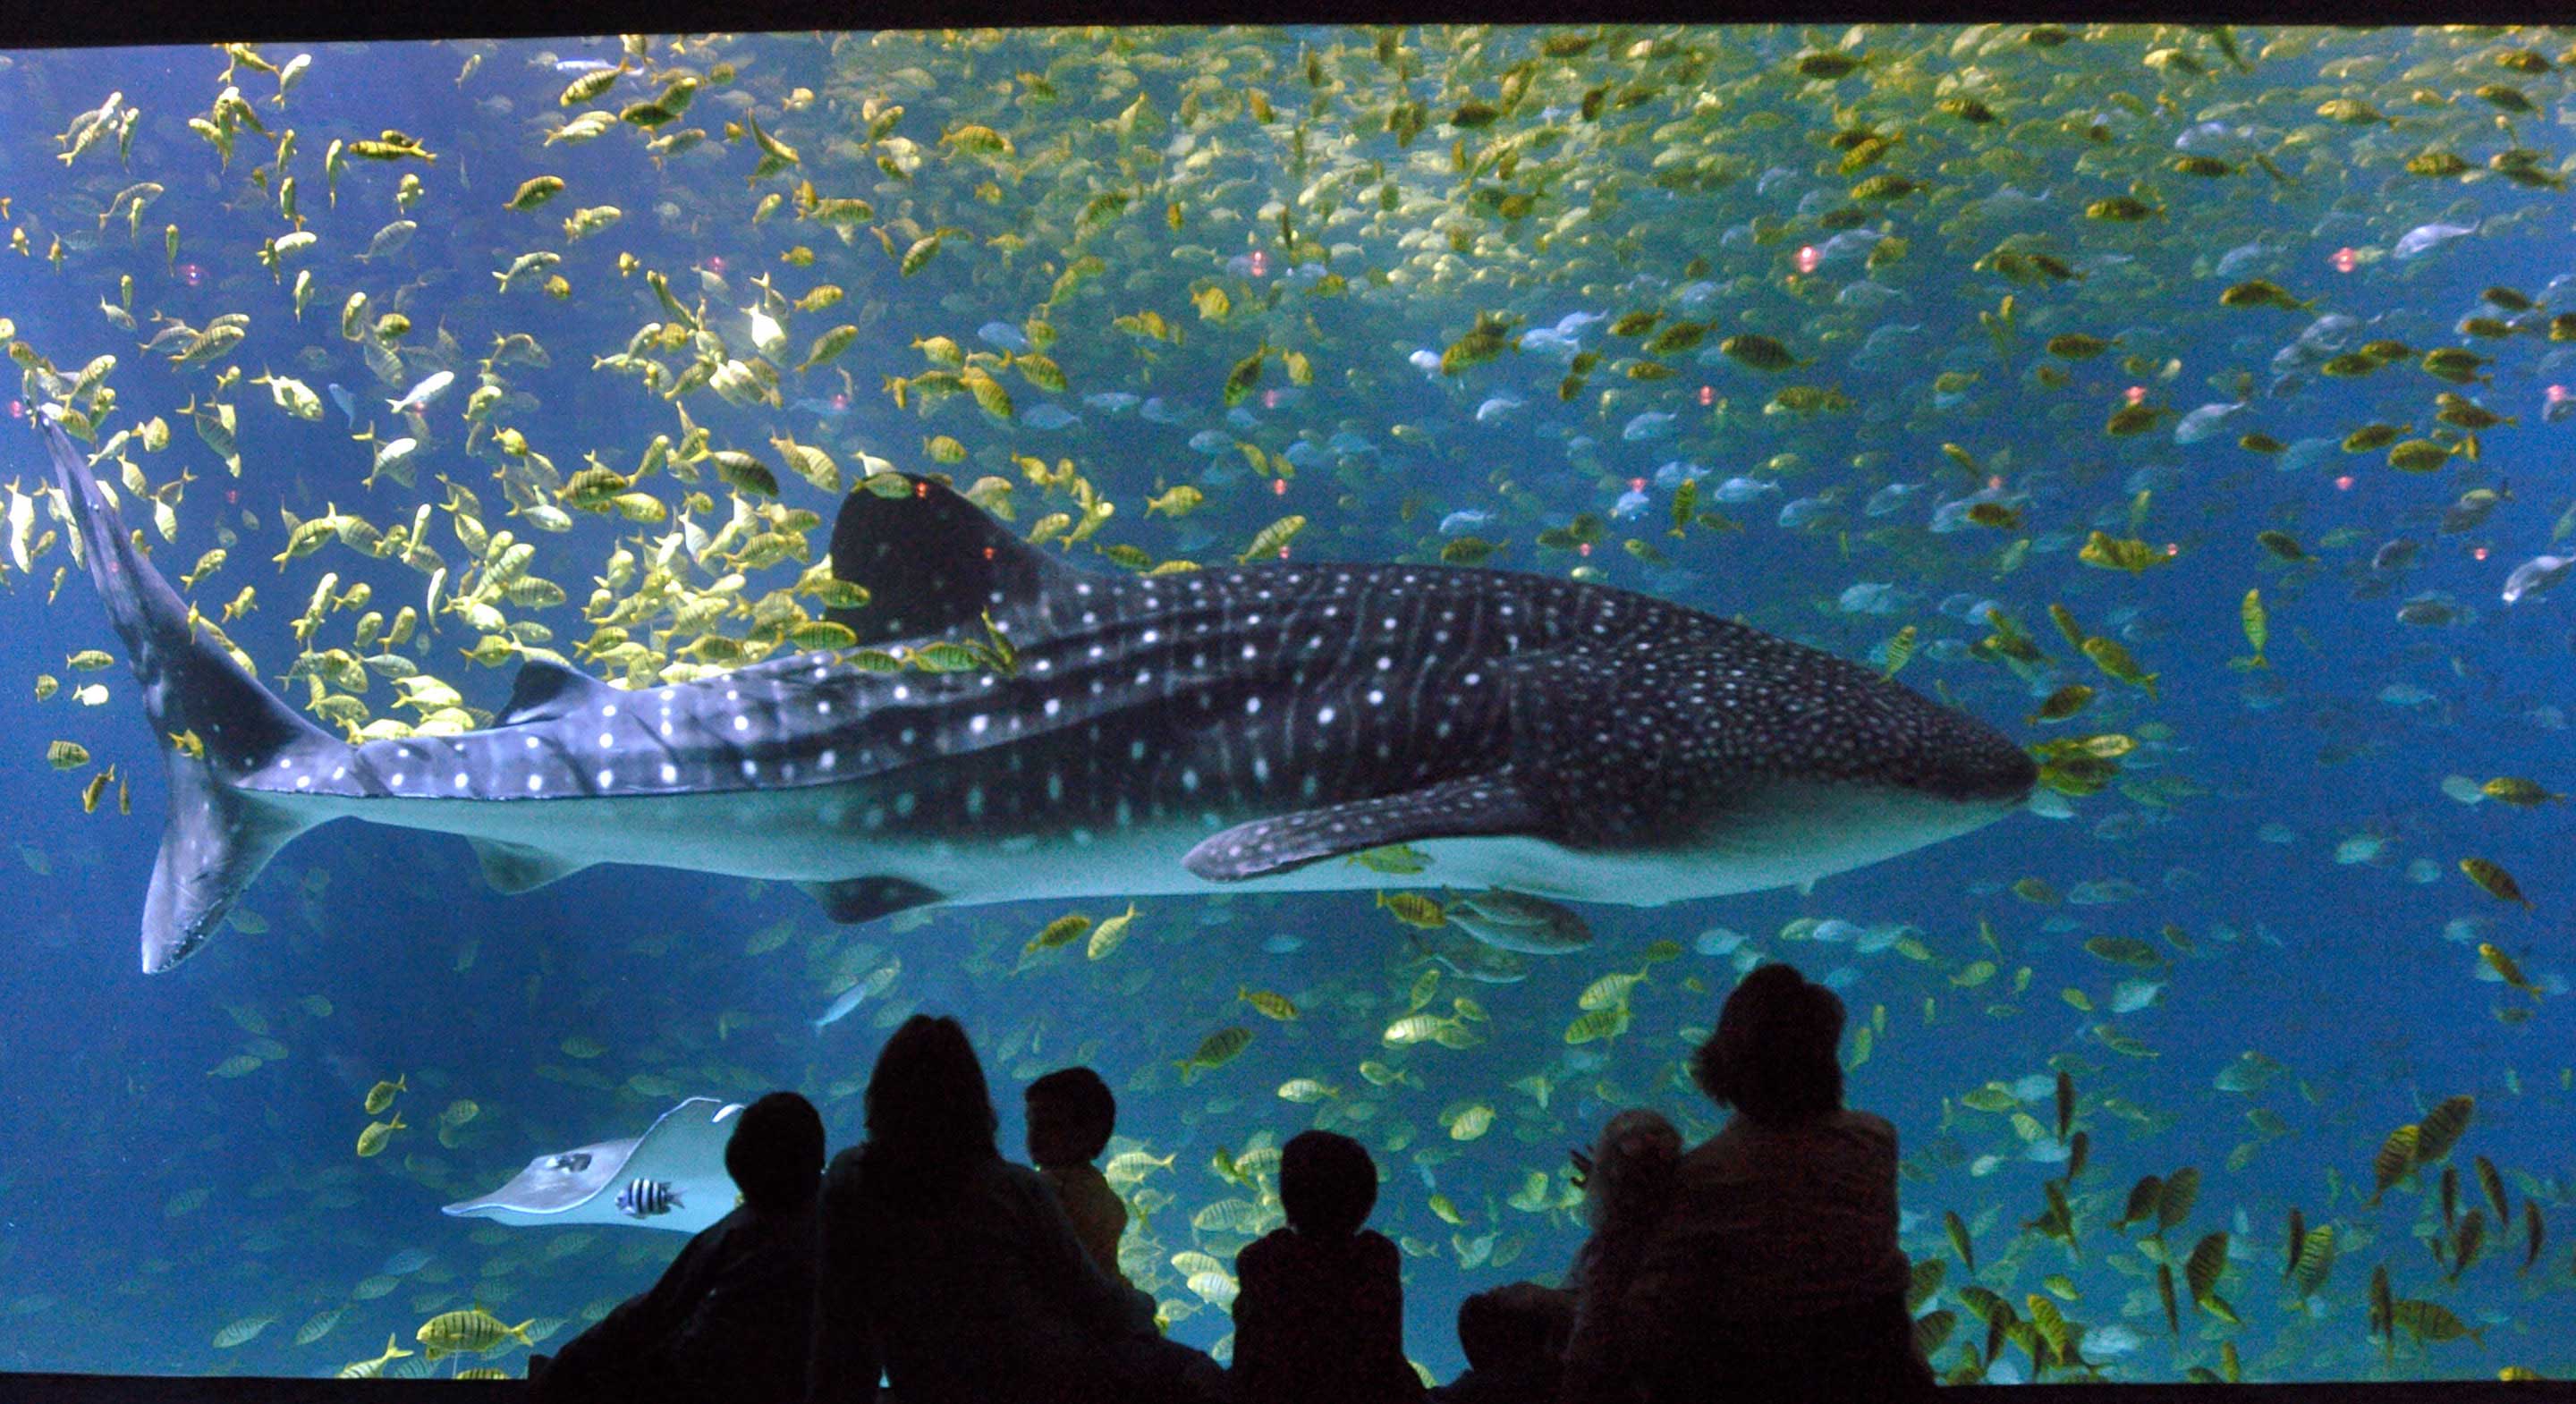
M 868 1074 L 866 1185 L 886 1200 L 945 1200 L 976 1162 L 1002 1154 L 997 1126 L 966 1028 L 912 1015 Z

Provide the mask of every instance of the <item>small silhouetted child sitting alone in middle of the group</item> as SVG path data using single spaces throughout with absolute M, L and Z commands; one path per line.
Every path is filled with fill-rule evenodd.
M 1242 1404 L 1422 1399 L 1404 1360 L 1396 1244 L 1363 1229 L 1378 1164 L 1350 1136 L 1301 1131 L 1280 1149 L 1273 1229 L 1234 1257 L 1234 1389 Z

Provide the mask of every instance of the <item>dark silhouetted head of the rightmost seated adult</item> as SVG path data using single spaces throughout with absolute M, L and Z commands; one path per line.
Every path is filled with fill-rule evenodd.
M 1718 1030 L 1690 1059 L 1710 1103 L 1762 1126 L 1795 1126 L 1842 1110 L 1842 997 L 1790 966 L 1759 966 L 1736 984 Z

